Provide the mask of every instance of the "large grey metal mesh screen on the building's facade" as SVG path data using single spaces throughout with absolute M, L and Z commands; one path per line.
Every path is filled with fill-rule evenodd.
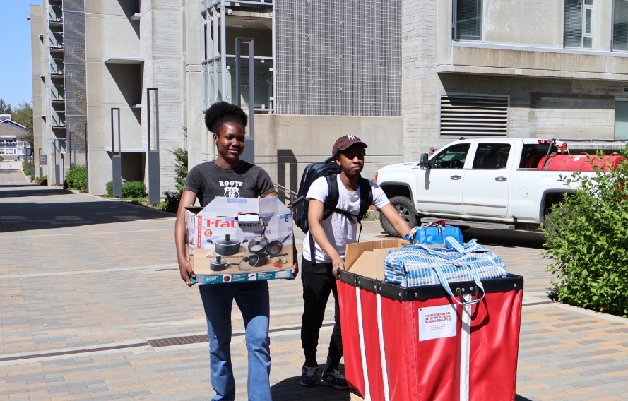
M 401 115 L 401 0 L 276 1 L 278 114 Z

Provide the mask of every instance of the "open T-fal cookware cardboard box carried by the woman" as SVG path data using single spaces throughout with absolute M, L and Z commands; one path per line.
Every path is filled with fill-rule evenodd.
M 185 220 L 197 283 L 292 278 L 292 213 L 276 196 L 215 198 Z

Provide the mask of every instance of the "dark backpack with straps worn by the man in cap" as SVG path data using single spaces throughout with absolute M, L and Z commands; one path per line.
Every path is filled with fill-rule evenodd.
M 302 232 L 307 233 L 309 231 L 309 224 L 307 223 L 307 211 L 309 201 L 305 198 L 309 187 L 321 176 L 326 177 L 327 188 L 329 195 L 323 205 L 323 220 L 331 216 L 331 213 L 341 213 L 355 219 L 355 222 L 360 223 L 365 216 L 369 208 L 373 203 L 373 193 L 369 180 L 360 177 L 360 211 L 357 215 L 348 213 L 345 210 L 336 208 L 338 205 L 338 181 L 336 181 L 336 175 L 340 173 L 340 166 L 334 162 L 333 157 L 329 157 L 324 162 L 310 163 L 305 167 L 303 175 L 301 176 L 301 183 L 299 184 L 299 191 L 297 191 L 297 198 L 292 200 L 288 205 L 292 209 L 292 218 L 295 220 L 295 224 L 300 227 Z M 362 231 L 362 225 L 360 224 L 360 231 Z

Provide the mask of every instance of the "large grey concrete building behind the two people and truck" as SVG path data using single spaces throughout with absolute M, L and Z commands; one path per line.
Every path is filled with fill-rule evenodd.
M 70 132 L 79 148 L 85 121 L 90 192 L 105 191 L 117 154 L 123 179 L 150 186 L 151 150 L 163 192 L 170 150 L 186 148 L 190 166 L 215 157 L 203 111 L 225 100 L 254 109 L 247 157 L 296 191 L 348 133 L 369 143 L 368 177 L 460 136 L 625 139 L 627 4 L 45 0 L 31 11 L 35 149 L 54 160 Z

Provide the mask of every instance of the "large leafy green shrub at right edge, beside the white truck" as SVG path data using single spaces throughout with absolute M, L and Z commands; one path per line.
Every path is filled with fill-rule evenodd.
M 628 156 L 628 146 L 622 155 Z M 578 189 L 552 208 L 541 228 L 555 296 L 627 317 L 628 161 L 614 171 L 598 168 L 592 179 L 576 172 L 562 181 Z

